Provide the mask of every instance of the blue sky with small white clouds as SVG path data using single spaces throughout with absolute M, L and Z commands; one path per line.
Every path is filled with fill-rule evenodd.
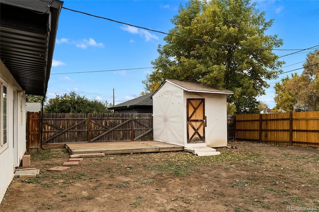
M 168 33 L 173 28 L 170 19 L 177 14 L 179 4 L 186 2 L 65 0 L 63 7 Z M 283 39 L 284 45 L 279 49 L 306 49 L 319 45 L 319 0 L 258 0 L 257 8 L 266 12 L 267 21 L 274 19 L 267 34 L 277 34 Z M 165 44 L 163 37 L 165 35 L 161 33 L 62 8 L 47 97 L 54 98 L 74 91 L 89 100 L 113 103 L 114 89 L 117 105 L 140 96 L 144 91 L 142 81 L 152 71 L 151 61 L 158 57 L 158 45 Z M 282 57 L 286 62 L 282 70 L 302 68 L 307 53 L 311 51 L 314 50 Z M 275 51 L 279 56 L 293 52 L 296 51 Z M 291 73 L 301 74 L 302 71 Z M 91 73 L 61 74 L 74 72 Z M 274 107 L 275 82 L 291 73 L 269 81 L 266 95 L 258 97 L 258 100 L 270 108 Z

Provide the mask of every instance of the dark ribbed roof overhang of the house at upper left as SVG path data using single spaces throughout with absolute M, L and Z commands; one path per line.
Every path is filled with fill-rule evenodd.
M 45 96 L 62 4 L 0 0 L 0 58 L 26 94 Z

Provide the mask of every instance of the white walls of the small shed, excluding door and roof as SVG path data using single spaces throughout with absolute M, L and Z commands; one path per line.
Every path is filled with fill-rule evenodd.
M 153 96 L 154 140 L 184 147 L 227 146 L 226 94 L 187 92 L 164 83 Z M 187 143 L 187 99 L 204 99 L 205 143 Z

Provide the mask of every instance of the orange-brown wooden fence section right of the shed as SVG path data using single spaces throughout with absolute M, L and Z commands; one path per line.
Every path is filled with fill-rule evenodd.
M 319 111 L 234 116 L 235 139 L 319 147 Z

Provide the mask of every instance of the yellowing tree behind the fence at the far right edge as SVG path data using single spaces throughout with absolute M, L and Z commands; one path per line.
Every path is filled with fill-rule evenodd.
M 275 85 L 277 109 L 287 111 L 319 110 L 319 50 L 307 55 L 304 71 L 283 78 Z

